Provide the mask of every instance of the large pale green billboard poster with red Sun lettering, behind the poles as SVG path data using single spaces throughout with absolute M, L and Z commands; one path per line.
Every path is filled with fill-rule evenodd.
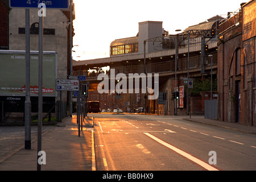
M 0 50 L 0 96 L 26 95 L 26 52 Z M 30 55 L 30 95 L 38 96 L 38 51 Z M 43 97 L 56 97 L 57 53 L 43 55 Z

